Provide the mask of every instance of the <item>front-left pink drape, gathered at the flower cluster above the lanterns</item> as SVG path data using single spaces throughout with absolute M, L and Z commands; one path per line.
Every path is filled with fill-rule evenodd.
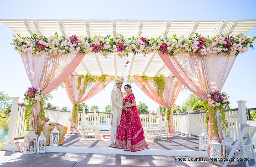
M 83 60 L 83 53 L 69 53 L 68 55 L 51 55 L 43 53 L 35 55 L 31 52 L 21 54 L 21 58 L 34 88 L 41 88 L 43 95 L 50 93 L 63 83 Z M 30 119 L 30 126 L 37 132 L 36 117 L 41 110 L 40 102 L 33 106 L 33 113 Z M 41 117 L 39 122 L 42 123 Z

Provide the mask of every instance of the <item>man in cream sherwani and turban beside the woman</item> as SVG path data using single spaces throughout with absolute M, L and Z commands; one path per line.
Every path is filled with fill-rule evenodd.
M 109 137 L 109 147 L 113 147 L 114 140 L 117 135 L 117 130 L 120 125 L 120 120 L 122 116 L 122 110 L 123 110 L 123 92 L 121 90 L 123 86 L 123 77 L 118 78 L 116 80 L 116 86 L 115 89 L 111 92 L 111 115 L 110 115 L 110 137 Z

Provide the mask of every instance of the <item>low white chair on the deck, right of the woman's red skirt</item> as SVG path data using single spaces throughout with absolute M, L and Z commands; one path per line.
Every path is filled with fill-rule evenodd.
M 160 135 L 160 139 L 162 141 L 162 135 L 166 134 L 168 137 L 168 124 L 167 121 L 162 121 L 162 115 L 156 115 L 156 122 L 155 123 L 148 123 L 149 127 L 144 128 L 145 137 L 147 140 L 148 134 L 156 134 L 157 139 Z

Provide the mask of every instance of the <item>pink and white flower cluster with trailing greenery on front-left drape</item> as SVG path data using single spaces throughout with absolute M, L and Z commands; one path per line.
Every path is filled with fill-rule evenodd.
M 43 120 L 45 118 L 45 106 L 46 106 L 46 100 L 52 99 L 51 94 L 46 94 L 43 95 L 41 93 L 41 89 L 37 88 L 35 89 L 34 87 L 29 87 L 28 90 L 25 91 L 24 93 L 24 103 L 25 103 L 25 113 L 24 113 L 24 118 L 26 120 L 25 122 L 25 127 L 26 131 L 29 130 L 30 128 L 30 119 L 32 116 L 33 112 L 33 106 L 36 104 L 36 102 L 40 102 L 41 110 L 39 112 L 39 115 L 36 117 L 37 120 L 37 133 L 41 131 L 41 123 L 39 122 L 39 118 Z

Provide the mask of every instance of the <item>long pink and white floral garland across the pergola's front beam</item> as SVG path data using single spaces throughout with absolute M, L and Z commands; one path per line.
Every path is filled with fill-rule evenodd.
M 117 52 L 119 57 L 128 56 L 129 52 L 133 54 L 141 53 L 144 56 L 151 52 L 168 53 L 174 56 L 180 52 L 195 52 L 201 55 L 212 53 L 226 53 L 226 55 L 238 55 L 253 49 L 252 43 L 256 36 L 244 36 L 244 34 L 235 34 L 225 37 L 223 34 L 217 34 L 213 37 L 204 37 L 195 33 L 195 37 L 132 37 L 125 38 L 121 33 L 117 33 L 114 38 L 111 35 L 102 37 L 94 35 L 93 38 L 84 36 L 59 36 L 55 35 L 45 37 L 34 34 L 31 37 L 14 34 L 15 38 L 11 45 L 20 54 L 31 51 L 34 54 L 42 54 L 44 52 L 56 55 L 67 54 L 71 52 L 82 53 L 100 53 L 107 56 L 110 53 Z

